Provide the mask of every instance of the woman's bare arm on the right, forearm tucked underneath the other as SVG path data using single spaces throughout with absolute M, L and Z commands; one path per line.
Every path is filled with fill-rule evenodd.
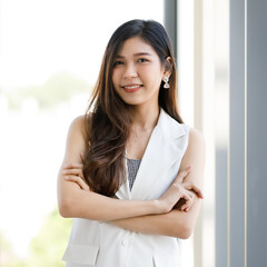
M 184 170 L 188 165 L 192 166 L 192 170 L 185 178 L 185 182 L 194 182 L 201 189 L 205 166 L 205 142 L 201 134 L 196 130 L 190 131 L 189 145 L 182 158 L 180 169 Z M 201 200 L 196 197 L 188 212 L 172 209 L 170 212 L 164 215 L 128 218 L 112 221 L 112 224 L 142 234 L 174 236 L 185 239 L 191 235 L 195 228 L 200 207 Z

